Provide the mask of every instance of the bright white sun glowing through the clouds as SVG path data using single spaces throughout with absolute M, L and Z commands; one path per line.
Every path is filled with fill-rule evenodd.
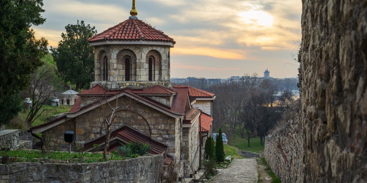
M 270 27 L 273 25 L 274 22 L 274 18 L 272 15 L 261 10 L 240 12 L 238 16 L 240 16 L 240 20 L 243 21 L 245 24 L 254 26 Z

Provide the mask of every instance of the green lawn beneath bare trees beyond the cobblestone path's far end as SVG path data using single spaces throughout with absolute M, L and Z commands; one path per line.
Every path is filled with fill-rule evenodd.
M 254 153 L 259 153 L 259 151 L 264 150 L 264 146 L 260 145 L 260 137 L 254 137 L 250 140 L 250 147 L 248 147 L 247 139 L 241 138 L 240 135 L 236 134 L 236 138 L 229 138 L 228 144 L 235 146 L 240 150 L 251 151 Z

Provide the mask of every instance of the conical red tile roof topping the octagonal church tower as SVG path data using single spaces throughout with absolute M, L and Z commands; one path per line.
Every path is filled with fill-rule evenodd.
M 168 37 L 163 32 L 146 24 L 142 20 L 129 18 L 124 22 L 113 26 L 102 33 L 99 33 L 88 39 L 89 42 L 105 41 L 105 40 L 119 40 L 119 41 L 164 41 L 176 42 L 173 38 Z

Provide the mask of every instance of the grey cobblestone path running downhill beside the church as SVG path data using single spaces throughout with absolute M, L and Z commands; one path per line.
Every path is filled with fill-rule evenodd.
M 257 183 L 257 164 L 254 158 L 234 159 L 228 168 L 222 169 L 210 183 Z

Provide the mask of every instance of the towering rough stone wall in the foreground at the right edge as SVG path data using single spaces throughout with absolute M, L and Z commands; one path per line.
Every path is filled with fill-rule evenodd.
M 367 180 L 367 0 L 302 0 L 304 182 Z

